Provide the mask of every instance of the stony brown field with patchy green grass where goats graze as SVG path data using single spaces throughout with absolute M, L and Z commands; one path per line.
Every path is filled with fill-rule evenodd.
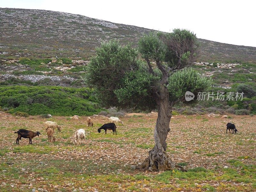
M 157 113 L 130 114 L 124 125 L 97 132 L 108 123 L 104 116 L 79 120 L 53 117 L 62 131 L 55 130 L 56 142 L 48 142 L 38 116 L 15 117 L 0 112 L 0 191 L 256 191 L 255 116 L 174 116 L 168 134 L 167 151 L 173 161 L 188 172 L 147 172 L 131 169 L 143 162 L 154 146 Z M 226 134 L 234 123 L 238 133 Z M 19 129 L 40 131 L 32 139 L 22 138 Z M 85 129 L 86 141 L 70 143 L 76 130 Z

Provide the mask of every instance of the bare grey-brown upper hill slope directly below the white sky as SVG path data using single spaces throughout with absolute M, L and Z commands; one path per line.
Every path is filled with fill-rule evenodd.
M 88 60 L 102 41 L 136 46 L 146 28 L 64 12 L 0 8 L 0 58 L 81 57 Z M 210 29 L 209 29 L 210 30 Z M 200 61 L 256 61 L 256 48 L 199 39 Z

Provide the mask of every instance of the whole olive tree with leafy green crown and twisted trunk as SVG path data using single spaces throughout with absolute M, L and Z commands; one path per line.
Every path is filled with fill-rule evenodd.
M 139 168 L 164 171 L 178 166 L 166 153 L 172 106 L 184 101 L 186 91 L 196 94 L 211 83 L 188 68 L 197 55 L 196 35 L 180 29 L 144 35 L 138 50 L 117 41 L 102 43 L 96 49 L 87 68 L 87 80 L 96 89 L 101 104 L 158 111 L 155 146 Z

